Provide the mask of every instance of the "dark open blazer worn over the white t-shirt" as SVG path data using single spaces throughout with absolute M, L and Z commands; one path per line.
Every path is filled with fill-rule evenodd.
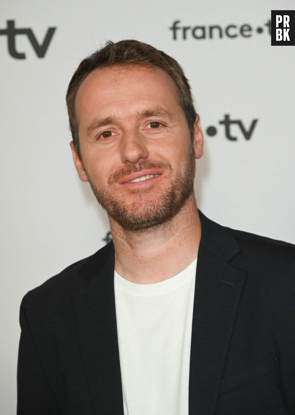
M 200 218 L 189 414 L 294 414 L 295 247 Z M 25 295 L 18 415 L 123 415 L 113 271 L 109 243 Z

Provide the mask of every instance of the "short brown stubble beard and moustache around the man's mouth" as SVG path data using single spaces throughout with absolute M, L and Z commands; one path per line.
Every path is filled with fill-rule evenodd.
M 149 189 L 134 189 L 122 199 L 115 184 L 126 175 L 143 169 L 163 169 L 169 179 L 166 189 L 155 186 Z M 184 171 L 173 170 L 167 162 L 144 160 L 130 164 L 112 174 L 108 187 L 98 189 L 88 177 L 98 202 L 114 221 L 129 231 L 147 231 L 158 227 L 180 212 L 194 192 L 195 157 L 193 147 Z

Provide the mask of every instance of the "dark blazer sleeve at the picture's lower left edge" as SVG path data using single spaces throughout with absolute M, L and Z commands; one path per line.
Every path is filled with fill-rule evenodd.
M 56 401 L 41 366 L 34 339 L 20 306 L 21 336 L 17 365 L 17 415 L 58 415 Z

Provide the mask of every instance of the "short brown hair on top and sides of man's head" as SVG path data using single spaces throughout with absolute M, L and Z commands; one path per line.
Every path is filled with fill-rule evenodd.
M 114 65 L 150 65 L 161 68 L 170 75 L 178 92 L 180 105 L 184 110 L 191 135 L 194 131 L 196 111 L 193 104 L 190 85 L 175 59 L 146 43 L 137 40 L 122 40 L 117 43 L 108 41 L 106 45 L 86 57 L 76 69 L 68 87 L 67 106 L 73 142 L 79 158 L 81 152 L 78 137 L 78 123 L 75 100 L 82 81 L 94 69 Z

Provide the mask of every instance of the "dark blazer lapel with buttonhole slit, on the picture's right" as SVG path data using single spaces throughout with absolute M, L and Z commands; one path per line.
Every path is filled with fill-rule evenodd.
M 230 233 L 200 213 L 189 379 L 189 414 L 213 415 L 246 272 L 228 261 L 240 252 Z

